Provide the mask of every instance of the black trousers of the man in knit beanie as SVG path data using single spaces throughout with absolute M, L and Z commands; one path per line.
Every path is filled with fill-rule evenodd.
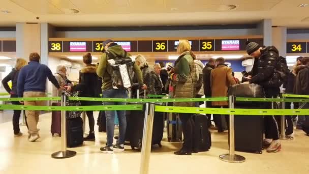
M 276 89 L 265 89 L 265 96 L 266 98 L 276 98 L 277 95 L 279 94 L 277 91 L 280 92 L 280 90 Z M 265 102 L 264 103 L 266 109 L 271 109 L 271 102 Z M 274 103 L 274 108 L 275 107 Z M 265 126 L 265 138 L 267 139 L 273 139 L 277 140 L 279 139 L 279 127 L 278 123 L 274 117 L 274 115 L 266 115 L 264 116 L 264 126 Z

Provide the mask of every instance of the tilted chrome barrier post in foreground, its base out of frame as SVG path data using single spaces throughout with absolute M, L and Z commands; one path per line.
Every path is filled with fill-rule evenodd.
M 140 174 L 147 174 L 149 170 L 154 107 L 154 103 L 146 103 Z

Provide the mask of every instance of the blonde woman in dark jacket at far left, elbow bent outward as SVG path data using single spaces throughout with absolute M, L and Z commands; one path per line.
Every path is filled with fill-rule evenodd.
M 13 68 L 13 70 L 10 72 L 9 75 L 7 75 L 3 80 L 2 80 L 2 84 L 4 86 L 4 88 L 6 89 L 6 91 L 11 94 L 11 98 L 17 98 L 17 79 L 18 79 L 18 74 L 19 71 L 22 67 L 24 67 L 25 65 L 27 65 L 27 61 L 22 59 L 22 58 L 18 58 L 16 60 L 16 65 Z M 12 81 L 12 89 L 10 88 L 8 82 Z M 15 105 L 20 105 L 20 103 L 18 101 L 12 101 L 12 104 Z M 22 133 L 20 132 L 19 129 L 19 118 L 20 118 L 20 113 L 21 110 L 14 110 L 13 112 L 13 130 L 14 130 L 14 136 L 18 137 L 18 136 L 22 136 Z

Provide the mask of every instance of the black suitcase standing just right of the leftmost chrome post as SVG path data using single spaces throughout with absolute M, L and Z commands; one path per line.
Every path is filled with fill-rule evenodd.
M 81 146 L 84 142 L 83 120 L 81 117 L 67 119 L 67 147 Z

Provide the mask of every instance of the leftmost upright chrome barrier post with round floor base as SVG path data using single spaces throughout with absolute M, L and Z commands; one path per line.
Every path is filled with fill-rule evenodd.
M 66 95 L 61 95 L 61 106 L 66 106 Z M 67 150 L 67 125 L 66 125 L 66 111 L 61 110 L 61 151 L 55 152 L 51 154 L 52 158 L 71 158 L 76 155 L 75 151 L 68 151 Z

